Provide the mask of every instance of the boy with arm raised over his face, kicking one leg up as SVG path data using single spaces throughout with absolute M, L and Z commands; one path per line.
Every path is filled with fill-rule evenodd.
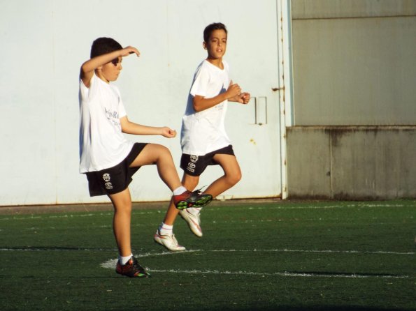
M 80 70 L 80 173 L 86 174 L 89 195 L 108 195 L 114 206 L 113 232 L 119 259 L 116 272 L 129 277 L 150 274 L 131 253 L 131 177 L 142 165 L 157 165 L 157 172 L 173 191 L 172 204 L 182 209 L 204 206 L 210 195 L 187 191 L 180 183 L 170 151 L 159 144 L 129 142 L 122 134 L 175 137 L 168 127 L 142 126 L 129 121 L 117 86 L 113 82 L 122 70 L 122 57 L 139 52 L 122 48 L 112 38 L 98 38 L 91 47 L 91 59 Z

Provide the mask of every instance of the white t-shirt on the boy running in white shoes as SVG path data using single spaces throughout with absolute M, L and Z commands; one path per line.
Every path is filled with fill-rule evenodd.
M 201 112 L 195 112 L 194 96 L 213 98 L 227 91 L 229 86 L 229 65 L 222 61 L 224 69 L 204 60 L 194 75 L 189 91 L 187 108 L 182 118 L 180 143 L 182 153 L 190 155 L 206 155 L 211 151 L 224 148 L 231 144 L 224 128 L 228 100 Z

